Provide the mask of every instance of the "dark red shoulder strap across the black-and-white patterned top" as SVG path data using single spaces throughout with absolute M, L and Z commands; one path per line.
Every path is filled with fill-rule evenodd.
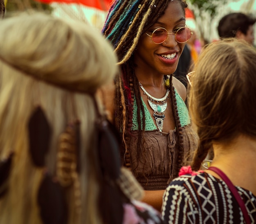
M 231 191 L 231 193 L 236 198 L 236 201 L 238 202 L 238 204 L 239 204 L 239 206 L 240 206 L 240 208 L 241 208 L 241 210 L 243 212 L 243 215 L 244 215 L 244 218 L 245 218 L 245 223 L 251 224 L 251 220 L 249 218 L 247 209 L 245 208 L 245 202 L 242 200 L 242 198 L 240 197 L 236 187 L 232 184 L 232 182 L 227 177 L 227 175 L 225 175 L 225 173 L 222 172 L 219 168 L 214 167 L 214 166 L 210 166 L 208 168 L 208 170 L 216 172 L 220 176 L 220 178 L 227 184 L 227 186 L 229 187 L 229 190 Z

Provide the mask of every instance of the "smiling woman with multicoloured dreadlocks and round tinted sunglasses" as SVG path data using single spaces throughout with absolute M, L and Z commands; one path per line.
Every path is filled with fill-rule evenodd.
M 102 33 L 115 47 L 120 74 L 103 101 L 122 139 L 121 159 L 161 209 L 162 195 L 197 146 L 173 72 L 191 38 L 184 0 L 116 0 Z

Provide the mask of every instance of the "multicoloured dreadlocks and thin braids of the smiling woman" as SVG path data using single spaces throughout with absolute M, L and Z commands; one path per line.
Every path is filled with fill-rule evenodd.
M 187 7 L 185 0 L 177 0 L 184 9 Z M 124 155 L 127 152 L 126 143 L 129 141 L 130 130 L 132 127 L 132 111 L 134 97 L 137 102 L 137 118 L 139 127 L 139 139 L 142 139 L 145 130 L 145 114 L 141 101 L 139 84 L 135 76 L 133 63 L 133 52 L 138 44 L 139 38 L 146 30 L 152 26 L 160 16 L 164 14 L 168 3 L 171 0 L 115 0 L 108 13 L 106 23 L 102 29 L 104 36 L 115 47 L 115 53 L 119 58 L 121 76 L 115 80 L 116 97 L 115 97 L 115 126 L 123 134 Z M 172 76 L 171 76 L 172 77 Z M 171 83 L 170 78 L 170 83 Z M 173 115 L 175 117 L 176 128 L 180 127 L 180 120 L 175 105 L 175 94 L 170 85 Z M 142 119 L 140 111 L 142 111 Z M 142 124 L 141 124 L 142 120 Z M 141 144 L 142 140 L 140 143 Z M 179 131 L 178 142 L 179 156 L 178 163 L 182 166 L 184 149 L 183 136 Z M 140 147 L 138 147 L 140 148 Z M 179 169 L 178 169 L 179 170 Z

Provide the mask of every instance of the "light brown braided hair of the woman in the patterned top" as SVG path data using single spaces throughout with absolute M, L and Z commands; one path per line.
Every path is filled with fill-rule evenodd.
M 222 40 L 203 50 L 189 90 L 189 110 L 197 127 L 198 170 L 214 142 L 238 134 L 256 137 L 256 50 L 243 40 Z

